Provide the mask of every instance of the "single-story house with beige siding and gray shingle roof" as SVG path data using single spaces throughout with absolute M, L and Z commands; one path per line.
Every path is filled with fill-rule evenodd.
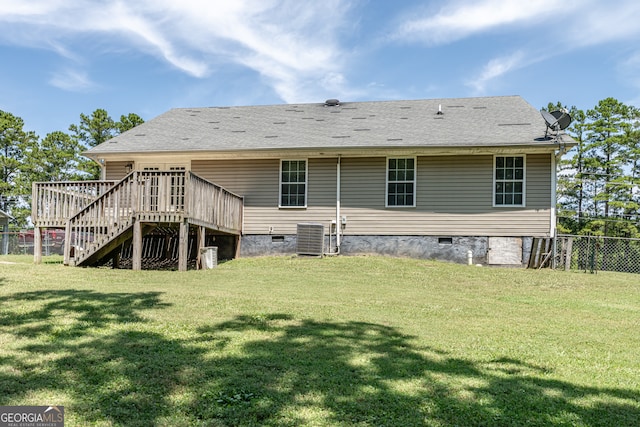
M 522 265 L 533 238 L 555 234 L 556 159 L 573 144 L 519 96 L 176 108 L 85 153 L 102 166 L 103 181 L 80 191 L 83 202 L 74 199 L 94 212 L 72 228 L 85 246 L 107 233 L 113 255 L 114 241 L 133 238 L 140 252 L 153 224 L 179 223 L 182 269 L 189 239 L 201 248 L 212 234 L 234 256 L 311 245 Z M 196 192 L 187 188 L 196 181 Z M 118 186 L 126 195 L 109 200 Z M 34 204 L 44 203 L 36 187 Z M 214 202 L 216 192 L 224 200 Z M 162 215 L 144 215 L 158 204 Z M 34 206 L 36 221 L 46 210 Z M 214 212 L 226 222 L 204 219 Z M 71 214 L 36 225 L 68 227 Z M 320 249 L 301 230 L 320 236 Z

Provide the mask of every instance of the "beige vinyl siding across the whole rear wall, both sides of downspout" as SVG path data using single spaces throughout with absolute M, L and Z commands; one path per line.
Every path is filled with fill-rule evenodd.
M 384 157 L 342 158 L 346 235 L 545 236 L 551 155 L 526 156 L 526 206 L 493 207 L 493 156 L 417 158 L 416 207 L 385 208 Z M 278 208 L 280 161 L 193 161 L 194 173 L 245 197 L 245 234 L 293 234 L 335 218 L 336 159 L 308 159 L 307 208 Z

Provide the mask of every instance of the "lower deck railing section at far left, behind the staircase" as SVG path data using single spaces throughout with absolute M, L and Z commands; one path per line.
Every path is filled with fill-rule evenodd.
M 37 227 L 64 227 L 67 220 L 117 181 L 34 182 L 31 221 Z

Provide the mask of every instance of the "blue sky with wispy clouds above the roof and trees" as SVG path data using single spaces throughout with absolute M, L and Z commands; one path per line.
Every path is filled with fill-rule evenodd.
M 0 0 L 0 109 L 521 95 L 640 106 L 638 0 Z

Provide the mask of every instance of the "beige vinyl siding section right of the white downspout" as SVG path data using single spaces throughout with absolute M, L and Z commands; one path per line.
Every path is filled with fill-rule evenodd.
M 342 161 L 345 234 L 545 236 L 551 155 L 527 156 L 527 205 L 493 207 L 493 156 L 418 157 L 415 208 L 384 208 L 386 159 Z

